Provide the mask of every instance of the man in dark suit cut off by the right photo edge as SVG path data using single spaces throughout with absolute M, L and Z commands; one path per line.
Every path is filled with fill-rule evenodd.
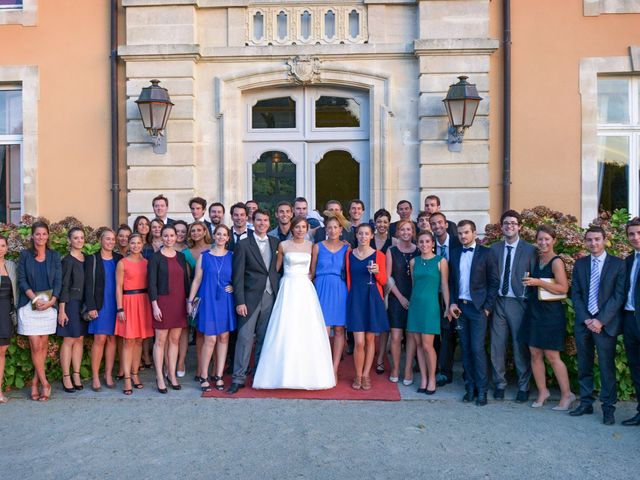
M 625 276 L 624 349 L 629 361 L 631 379 L 636 390 L 638 406 L 635 416 L 624 420 L 622 425 L 640 426 L 640 218 L 635 217 L 627 223 L 627 240 L 633 252 L 626 258 L 627 274 Z

